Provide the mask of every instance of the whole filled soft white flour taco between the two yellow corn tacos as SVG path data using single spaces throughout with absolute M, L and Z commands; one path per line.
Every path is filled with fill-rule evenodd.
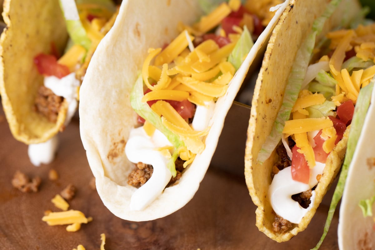
M 249 24 L 256 19 L 241 23 L 252 14 L 244 14 L 240 1 L 205 15 L 198 1 L 155 3 L 122 4 L 80 90 L 81 139 L 96 188 L 112 213 L 132 221 L 167 216 L 193 197 L 249 66 L 288 4 L 251 48 Z M 237 18 L 237 27 L 204 34 L 225 18 Z

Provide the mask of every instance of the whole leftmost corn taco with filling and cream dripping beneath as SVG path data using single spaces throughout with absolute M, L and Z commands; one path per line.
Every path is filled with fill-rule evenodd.
M 1 100 L 13 136 L 30 144 L 34 165 L 53 160 L 55 135 L 77 109 L 87 65 L 114 22 L 111 1 L 77 2 L 78 11 L 73 0 L 4 2 Z

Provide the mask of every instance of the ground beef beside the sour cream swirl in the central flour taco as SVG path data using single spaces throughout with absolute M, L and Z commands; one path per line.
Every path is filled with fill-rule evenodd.
M 183 167 L 184 161 L 181 160 L 179 157 L 175 161 L 176 166 L 176 176 L 172 177 L 169 181 L 167 187 L 172 186 L 177 180 L 179 180 L 182 176 L 182 171 L 184 170 Z M 143 184 L 151 178 L 152 173 L 154 171 L 153 166 L 147 165 L 142 162 L 138 162 L 135 164 L 135 169 L 129 174 L 127 184 L 132 185 L 133 187 L 139 188 Z

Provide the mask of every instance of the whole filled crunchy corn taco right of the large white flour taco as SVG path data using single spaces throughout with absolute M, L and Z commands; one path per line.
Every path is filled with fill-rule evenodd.
M 373 26 L 356 27 L 357 1 L 293 3 L 266 50 L 245 151 L 256 225 L 278 242 L 314 216 L 344 160 L 360 88 L 375 73 Z

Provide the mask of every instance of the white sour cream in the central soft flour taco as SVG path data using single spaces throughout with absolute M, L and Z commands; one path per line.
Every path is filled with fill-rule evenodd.
M 213 114 L 214 102 L 206 103 L 206 106 L 197 106 L 193 118 L 193 126 L 204 130 Z M 125 145 L 125 154 L 130 162 L 142 162 L 152 165 L 154 170 L 151 178 L 141 187 L 135 190 L 130 198 L 130 210 L 143 210 L 151 204 L 163 192 L 165 186 L 171 180 L 171 171 L 167 168 L 169 157 L 163 155 L 157 148 L 172 146 L 165 135 L 155 130 L 152 136 L 148 136 L 143 127 L 130 130 L 129 139 Z

